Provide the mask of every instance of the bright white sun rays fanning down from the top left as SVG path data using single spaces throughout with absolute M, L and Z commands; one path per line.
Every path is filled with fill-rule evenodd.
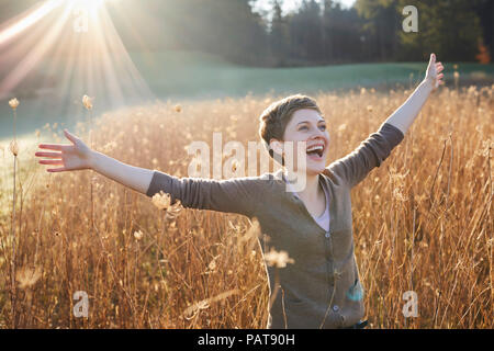
M 0 26 L 0 99 L 11 95 L 30 75 L 38 75 L 33 76 L 37 83 L 55 79 L 49 93 L 66 105 L 85 93 L 98 95 L 102 110 L 154 99 L 113 25 L 106 2 L 47 0 Z M 81 16 L 86 18 L 77 22 Z M 36 103 L 46 102 L 37 99 Z

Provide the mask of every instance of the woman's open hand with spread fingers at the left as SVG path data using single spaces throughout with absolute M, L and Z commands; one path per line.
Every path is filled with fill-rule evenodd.
M 63 166 L 60 168 L 50 168 L 48 172 L 64 172 L 76 171 L 83 169 L 91 169 L 93 151 L 77 136 L 64 129 L 64 134 L 72 145 L 69 144 L 40 144 L 41 149 L 48 149 L 58 152 L 36 152 L 37 157 L 45 157 L 48 159 L 40 160 L 41 165 Z

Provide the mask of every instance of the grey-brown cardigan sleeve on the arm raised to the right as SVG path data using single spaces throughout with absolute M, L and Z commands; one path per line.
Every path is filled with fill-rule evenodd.
M 383 123 L 378 132 L 369 135 L 353 151 L 330 163 L 328 169 L 353 188 L 373 168 L 380 167 L 404 137 L 403 132 L 394 125 Z

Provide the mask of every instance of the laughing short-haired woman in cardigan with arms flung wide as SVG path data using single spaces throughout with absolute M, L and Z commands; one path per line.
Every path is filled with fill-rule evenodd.
M 271 157 L 284 163 L 300 143 L 303 169 L 280 169 L 260 177 L 207 180 L 181 178 L 124 165 L 88 148 L 67 131 L 72 145 L 40 145 L 48 172 L 92 169 L 147 196 L 159 191 L 184 207 L 244 214 L 259 220 L 270 247 L 293 260 L 268 267 L 272 305 L 268 328 L 362 328 L 363 290 L 353 254 L 350 190 L 389 157 L 404 138 L 430 92 L 442 84 L 444 69 L 430 55 L 424 81 L 406 102 L 351 154 L 325 167 L 329 135 L 314 100 L 292 95 L 271 104 L 260 117 L 260 136 Z M 299 165 L 294 161 L 292 165 Z M 289 179 L 303 176 L 293 191 Z

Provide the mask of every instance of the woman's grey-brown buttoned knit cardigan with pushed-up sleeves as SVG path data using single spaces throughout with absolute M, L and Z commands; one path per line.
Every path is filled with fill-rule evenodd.
M 271 247 L 284 250 L 293 264 L 278 269 L 280 290 L 268 328 L 340 328 L 364 315 L 363 290 L 353 253 L 350 190 L 381 166 L 404 134 L 383 123 L 352 152 L 330 163 L 319 181 L 329 194 L 329 231 L 285 191 L 282 170 L 259 177 L 211 180 L 176 178 L 154 172 L 146 195 L 159 191 L 184 207 L 238 213 L 257 217 Z M 261 246 L 262 247 L 262 246 Z M 277 268 L 267 267 L 270 294 Z

